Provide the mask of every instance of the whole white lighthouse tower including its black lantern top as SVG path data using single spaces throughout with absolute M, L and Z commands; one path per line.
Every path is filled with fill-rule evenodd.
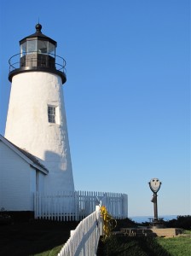
M 9 60 L 11 93 L 5 137 L 33 154 L 49 170 L 42 190 L 74 191 L 62 84 L 65 61 L 42 26 L 20 40 L 20 54 Z

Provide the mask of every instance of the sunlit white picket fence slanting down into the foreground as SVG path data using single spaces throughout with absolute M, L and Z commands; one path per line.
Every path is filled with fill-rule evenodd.
M 62 247 L 58 256 L 93 256 L 96 255 L 101 236 L 100 207 L 84 218 L 72 231 L 67 243 Z

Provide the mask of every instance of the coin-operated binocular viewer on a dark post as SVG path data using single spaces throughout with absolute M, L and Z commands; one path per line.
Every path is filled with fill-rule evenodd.
M 158 218 L 157 192 L 159 191 L 162 183 L 159 181 L 159 178 L 153 177 L 148 184 L 149 184 L 150 189 L 153 191 L 153 198 L 152 198 L 153 214 L 154 214 L 153 226 L 155 226 L 156 224 L 159 224 L 159 222 L 160 222 L 159 218 Z

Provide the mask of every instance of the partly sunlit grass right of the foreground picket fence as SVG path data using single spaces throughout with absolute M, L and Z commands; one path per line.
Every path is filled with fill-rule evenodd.
M 97 256 L 189 256 L 190 236 L 147 238 L 111 236 L 102 241 Z

